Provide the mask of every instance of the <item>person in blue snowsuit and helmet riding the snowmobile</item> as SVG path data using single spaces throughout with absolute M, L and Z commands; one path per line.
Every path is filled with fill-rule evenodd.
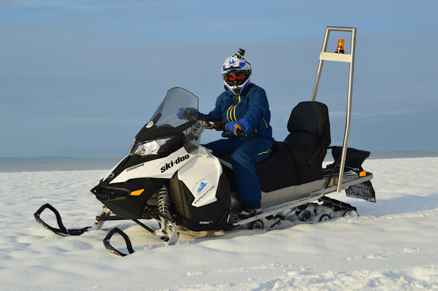
M 255 163 L 269 157 L 274 143 L 271 112 L 265 91 L 251 83 L 251 65 L 243 58 L 244 50 L 225 60 L 221 74 L 225 91 L 217 99 L 215 108 L 208 114 L 198 113 L 200 119 L 212 122 L 225 121 L 220 139 L 205 144 L 213 155 L 231 154 L 239 200 L 244 204 L 241 219 L 261 213 L 261 189 L 256 175 Z M 192 108 L 181 108 L 180 118 L 193 113 Z

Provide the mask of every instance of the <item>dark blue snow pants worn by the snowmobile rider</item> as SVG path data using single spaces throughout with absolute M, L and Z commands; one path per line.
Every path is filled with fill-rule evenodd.
M 205 147 L 216 157 L 231 153 L 239 199 L 245 205 L 255 205 L 261 201 L 261 190 L 254 164 L 269 157 L 273 143 L 274 140 L 262 137 L 230 138 L 207 143 Z

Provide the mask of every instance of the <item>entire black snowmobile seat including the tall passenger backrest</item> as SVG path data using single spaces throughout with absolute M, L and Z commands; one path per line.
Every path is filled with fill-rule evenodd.
M 269 159 L 256 164 L 263 192 L 323 177 L 322 162 L 331 142 L 327 106 L 317 101 L 299 103 L 290 113 L 287 130 L 283 142 L 274 142 Z

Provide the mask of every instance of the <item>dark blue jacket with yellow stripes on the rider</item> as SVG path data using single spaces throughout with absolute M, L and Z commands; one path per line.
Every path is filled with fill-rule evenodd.
M 272 127 L 269 125 L 271 112 L 266 93 L 259 86 L 251 83 L 244 92 L 236 96 L 226 90 L 216 99 L 216 107 L 207 114 L 212 121 L 238 121 L 247 118 L 253 127 L 250 136 L 272 138 Z M 223 137 L 241 138 L 234 133 L 222 133 Z

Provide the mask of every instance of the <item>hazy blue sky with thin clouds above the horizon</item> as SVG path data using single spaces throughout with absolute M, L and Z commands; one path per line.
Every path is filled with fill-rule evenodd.
M 438 151 L 438 2 L 0 0 L 0 157 L 122 157 L 168 89 L 223 91 L 246 51 L 276 140 L 311 99 L 327 26 L 356 27 L 348 145 Z M 350 33 L 332 32 L 329 49 Z M 345 130 L 348 64 L 324 63 L 317 100 L 332 145 Z M 220 138 L 206 132 L 202 142 Z

